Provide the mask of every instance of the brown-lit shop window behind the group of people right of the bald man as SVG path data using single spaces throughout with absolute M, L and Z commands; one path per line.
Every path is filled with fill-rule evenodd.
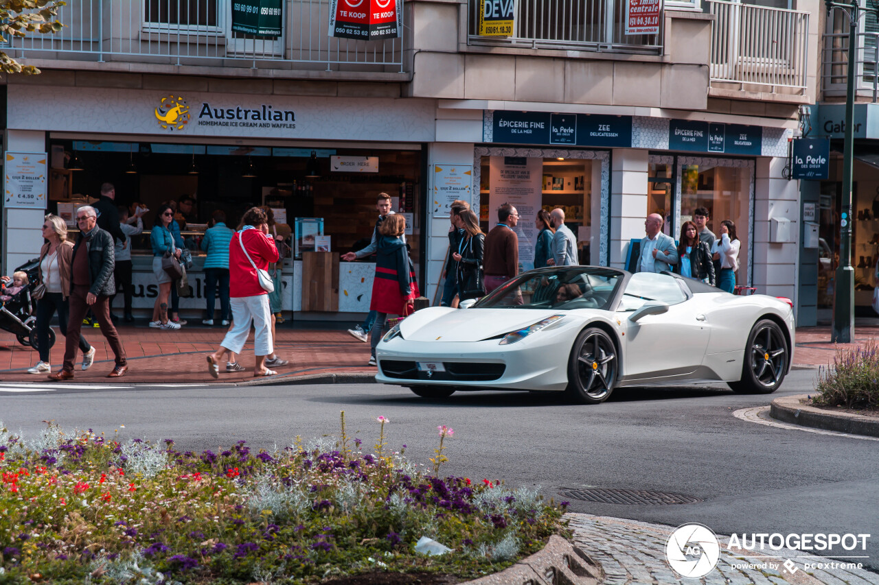
M 724 166 L 725 164 L 738 166 Z M 744 162 L 726 162 L 717 159 L 679 158 L 680 217 L 676 228 L 684 221 L 692 221 L 699 207 L 708 209 L 707 227 L 720 236 L 720 222 L 732 220 L 741 248 L 738 253 L 737 285 L 747 285 L 751 253 L 749 224 L 753 166 Z M 677 230 L 676 230 L 677 231 Z

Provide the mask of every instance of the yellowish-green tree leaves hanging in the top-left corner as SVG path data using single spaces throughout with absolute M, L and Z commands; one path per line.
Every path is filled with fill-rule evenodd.
M 62 29 L 56 17 L 58 9 L 66 3 L 62 0 L 0 0 L 0 42 L 23 38 L 28 32 L 51 34 Z M 0 51 L 0 71 L 34 75 L 40 69 L 22 65 L 8 54 Z

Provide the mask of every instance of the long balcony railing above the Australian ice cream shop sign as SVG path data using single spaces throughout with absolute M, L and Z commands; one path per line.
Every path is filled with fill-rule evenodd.
M 232 30 L 232 0 L 76 0 L 60 32 L 11 40 L 12 55 L 271 69 L 403 72 L 403 38 L 330 37 L 330 0 L 284 0 L 282 32 Z M 8 50 L 7 50 L 8 51 Z

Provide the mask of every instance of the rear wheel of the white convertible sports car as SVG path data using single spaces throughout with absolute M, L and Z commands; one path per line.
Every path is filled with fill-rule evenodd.
M 772 394 L 788 372 L 788 342 L 775 321 L 757 321 L 748 336 L 742 378 L 729 382 L 737 394 Z

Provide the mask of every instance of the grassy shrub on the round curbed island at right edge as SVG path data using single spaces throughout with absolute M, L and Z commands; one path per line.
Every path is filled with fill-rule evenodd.
M 833 365 L 818 369 L 818 406 L 879 408 L 879 345 L 871 338 L 854 349 L 837 348 Z

